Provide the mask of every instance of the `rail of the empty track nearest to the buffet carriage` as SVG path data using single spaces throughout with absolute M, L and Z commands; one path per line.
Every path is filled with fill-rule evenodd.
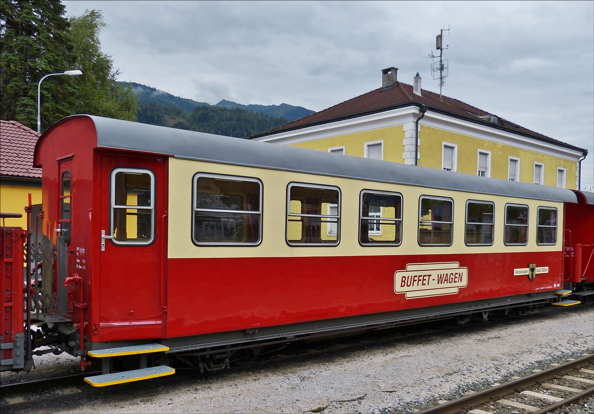
M 580 365 L 586 365 L 594 362 L 594 354 L 583 356 L 575 361 L 565 362 L 565 364 L 558 367 L 550 368 L 549 370 L 536 372 L 535 374 L 526 375 L 526 377 L 518 380 L 509 381 L 508 383 L 499 386 L 487 388 L 486 390 L 478 391 L 476 393 L 464 396 L 462 398 L 451 400 L 450 402 L 440 404 L 438 406 L 429 407 L 421 410 L 418 414 L 440 413 L 440 414 L 455 414 L 461 411 L 466 406 L 477 406 L 486 403 L 494 396 L 504 396 L 516 391 L 516 388 L 529 387 L 538 381 L 548 380 L 556 374 L 561 374 L 573 370 Z M 545 412 L 546 413 L 546 412 Z

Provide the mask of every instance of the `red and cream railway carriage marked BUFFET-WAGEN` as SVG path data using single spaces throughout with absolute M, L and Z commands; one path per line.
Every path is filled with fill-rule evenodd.
M 570 277 L 593 281 L 594 200 L 571 190 L 86 115 L 49 128 L 34 160 L 58 251 L 37 321 L 84 359 L 182 353 L 212 370 L 248 345 L 558 302 Z M 155 359 L 140 367 L 170 372 Z M 103 367 L 102 384 L 160 375 Z

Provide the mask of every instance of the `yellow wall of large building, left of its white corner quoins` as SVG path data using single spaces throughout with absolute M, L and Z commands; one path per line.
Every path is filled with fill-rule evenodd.
M 402 152 L 404 145 L 402 140 L 405 133 L 402 125 L 390 126 L 389 128 L 374 129 L 365 132 L 349 133 L 348 135 L 333 136 L 331 138 L 317 139 L 315 141 L 299 142 L 292 144 L 293 147 L 318 149 L 328 151 L 328 148 L 345 146 L 345 155 L 355 157 L 365 156 L 365 142 L 384 141 L 384 161 L 404 163 Z

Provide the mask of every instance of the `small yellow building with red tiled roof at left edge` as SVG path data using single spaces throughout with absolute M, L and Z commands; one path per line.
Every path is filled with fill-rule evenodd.
M 7 226 L 27 228 L 29 193 L 33 204 L 41 203 L 41 168 L 33 168 L 38 138 L 39 133 L 21 123 L 0 121 L 0 212 L 23 215 L 4 219 Z

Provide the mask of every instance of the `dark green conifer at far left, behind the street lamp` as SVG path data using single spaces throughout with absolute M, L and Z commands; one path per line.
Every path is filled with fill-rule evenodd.
M 0 116 L 30 128 L 37 125 L 37 82 L 73 68 L 72 37 L 59 1 L 0 2 Z M 74 79 L 52 77 L 42 84 L 43 123 L 71 114 Z

